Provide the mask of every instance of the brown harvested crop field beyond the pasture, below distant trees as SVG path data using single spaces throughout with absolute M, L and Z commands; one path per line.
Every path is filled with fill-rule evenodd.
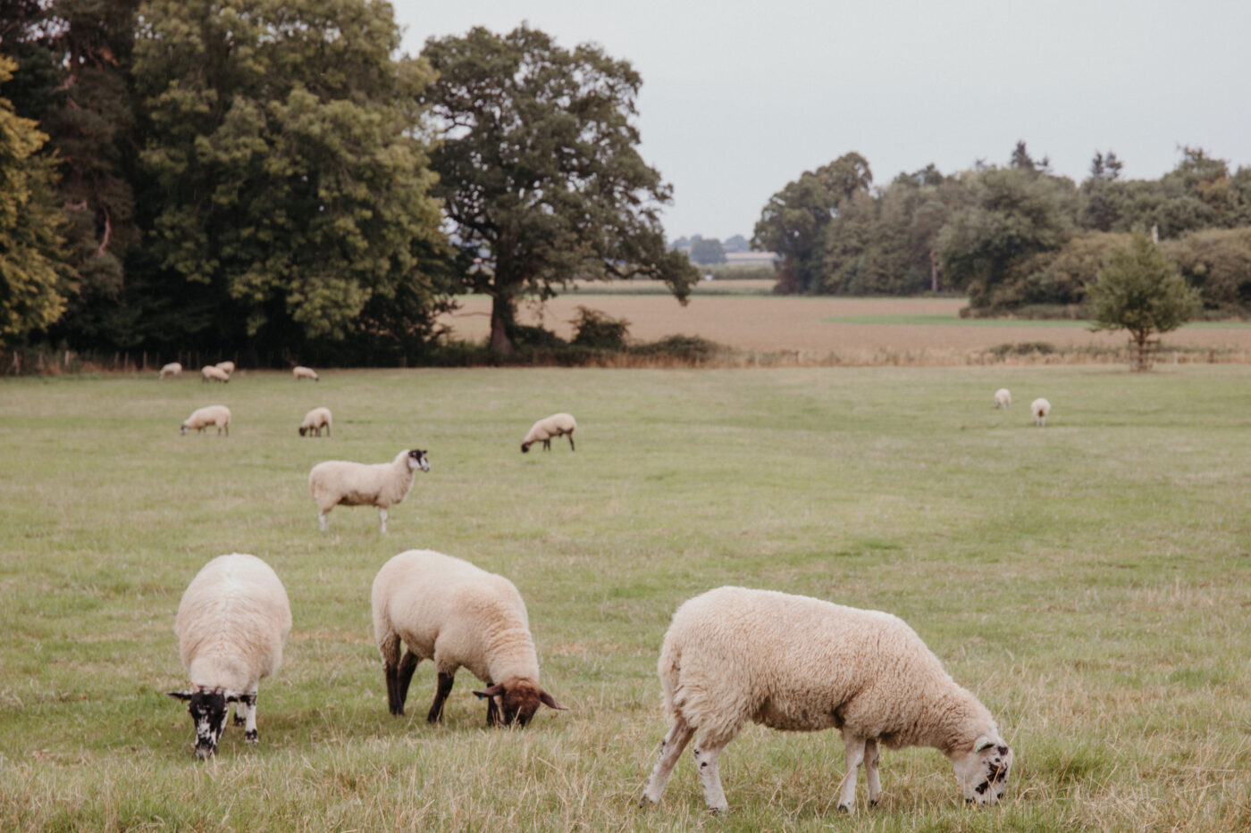
M 1123 334 L 1091 333 L 1082 321 L 1027 321 L 961 319 L 962 299 L 922 298 L 777 298 L 711 294 L 697 288 L 687 306 L 672 296 L 633 293 L 569 293 L 545 305 L 524 304 L 524 324 L 543 324 L 563 338 L 572 335 L 569 320 L 578 306 L 603 310 L 629 320 L 629 333 L 641 340 L 666 335 L 698 335 L 743 350 L 841 355 L 962 351 L 1000 344 L 1046 341 L 1063 348 L 1120 348 Z M 462 309 L 444 316 L 455 338 L 484 339 L 490 300 L 470 296 Z M 1165 349 L 1251 350 L 1251 324 L 1191 324 L 1165 336 Z M 1236 356 L 1231 356 L 1235 358 Z

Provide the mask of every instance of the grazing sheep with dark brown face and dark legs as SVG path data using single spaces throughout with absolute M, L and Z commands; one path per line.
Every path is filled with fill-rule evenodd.
M 503 575 L 429 549 L 410 549 L 383 564 L 372 593 L 374 638 L 383 655 L 387 705 L 404 714 L 413 672 L 434 660 L 438 682 L 425 719 L 443 719 L 457 669 L 487 684 L 487 725 L 525 725 L 539 705 L 564 710 L 539 685 L 539 660 L 525 603 Z M 400 642 L 408 650 L 400 659 Z M 498 700 L 498 703 L 497 703 Z M 500 718 L 503 713 L 503 718 Z

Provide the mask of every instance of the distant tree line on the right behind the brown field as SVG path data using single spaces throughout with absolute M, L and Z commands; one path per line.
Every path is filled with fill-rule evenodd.
M 774 194 L 752 244 L 778 253 L 782 293 L 956 290 L 972 315 L 1076 316 L 1112 253 L 1155 233 L 1206 315 L 1251 315 L 1251 168 L 1198 148 L 1157 180 L 1122 168 L 1096 151 L 1076 184 L 1021 141 L 1002 166 L 928 165 L 881 188 L 848 153 Z

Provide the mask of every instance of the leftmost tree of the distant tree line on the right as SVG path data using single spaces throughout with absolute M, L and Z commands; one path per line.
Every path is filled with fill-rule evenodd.
M 856 193 L 868 193 L 873 174 L 857 153 L 843 154 L 769 198 L 752 235 L 752 248 L 776 251 L 778 291 L 819 291 L 826 226 Z

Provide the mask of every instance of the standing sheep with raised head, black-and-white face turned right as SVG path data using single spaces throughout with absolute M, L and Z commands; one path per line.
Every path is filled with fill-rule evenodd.
M 387 532 L 387 510 L 402 503 L 413 488 L 417 469 L 430 470 L 422 449 L 404 450 L 390 463 L 349 463 L 327 460 L 309 472 L 309 492 L 317 502 L 317 525 L 330 529 L 327 515 L 337 505 L 378 507 L 379 532 Z

